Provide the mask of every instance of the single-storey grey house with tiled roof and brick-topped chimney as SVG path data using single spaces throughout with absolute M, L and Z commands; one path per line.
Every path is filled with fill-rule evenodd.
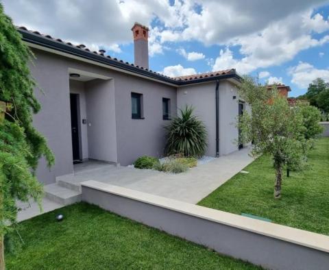
M 123 166 L 143 155 L 164 154 L 164 125 L 184 105 L 192 105 L 208 130 L 207 156 L 236 151 L 234 123 L 245 104 L 234 69 L 167 77 L 148 68 L 147 27 L 136 23 L 135 63 L 89 51 L 20 27 L 36 56 L 30 70 L 42 105 L 34 125 L 56 156 L 49 170 L 40 160 L 37 176 L 50 184 L 73 173 L 73 162 L 101 160 Z

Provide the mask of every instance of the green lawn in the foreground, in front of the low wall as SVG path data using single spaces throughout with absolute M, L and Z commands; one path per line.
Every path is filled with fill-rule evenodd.
M 260 269 L 84 203 L 23 221 L 18 231 L 25 244 L 5 254 L 7 269 Z

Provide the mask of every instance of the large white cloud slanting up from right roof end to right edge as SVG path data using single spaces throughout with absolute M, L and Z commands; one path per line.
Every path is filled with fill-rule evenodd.
M 225 51 L 220 51 L 213 70 L 235 68 L 238 73 L 249 73 L 258 68 L 280 65 L 292 60 L 304 49 L 324 45 L 329 41 L 329 36 L 317 39 L 313 38 L 312 32 L 328 30 L 328 21 L 321 15 L 315 19 L 315 16 L 310 18 L 306 14 L 309 12 L 292 14 L 260 32 L 234 38 L 231 45 L 240 46 L 242 58 L 234 58 L 227 47 Z

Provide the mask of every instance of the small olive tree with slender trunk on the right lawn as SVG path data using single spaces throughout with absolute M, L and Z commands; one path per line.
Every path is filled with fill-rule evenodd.
M 243 78 L 239 96 L 250 106 L 237 123 L 239 143 L 253 142 L 253 156 L 271 156 L 276 169 L 274 197 L 280 198 L 284 165 L 300 164 L 304 156 L 302 113 L 297 107 L 291 108 L 276 87 L 269 90 L 252 77 Z

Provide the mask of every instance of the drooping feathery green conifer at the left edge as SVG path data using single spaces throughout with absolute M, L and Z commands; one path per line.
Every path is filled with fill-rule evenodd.
M 3 236 L 16 223 L 16 201 L 40 202 L 38 160 L 43 156 L 49 166 L 54 162 L 45 138 L 32 125 L 40 104 L 29 73 L 31 56 L 0 4 L 0 270 L 5 269 Z

